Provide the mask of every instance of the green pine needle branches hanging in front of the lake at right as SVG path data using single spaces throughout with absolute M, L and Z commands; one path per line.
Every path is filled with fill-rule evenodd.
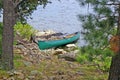
M 78 0 L 82 6 L 93 10 L 88 15 L 79 15 L 83 23 L 82 33 L 89 45 L 104 48 L 109 45 L 109 39 L 117 33 L 119 6 L 118 0 Z

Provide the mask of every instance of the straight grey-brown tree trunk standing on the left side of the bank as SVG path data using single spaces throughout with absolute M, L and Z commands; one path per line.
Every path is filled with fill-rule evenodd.
M 13 63 L 13 26 L 15 24 L 15 10 L 12 0 L 3 0 L 3 35 L 2 35 L 2 68 L 11 70 Z

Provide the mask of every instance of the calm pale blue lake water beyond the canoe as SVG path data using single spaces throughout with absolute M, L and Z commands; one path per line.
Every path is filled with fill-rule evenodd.
M 44 9 L 38 6 L 32 14 L 33 19 L 28 19 L 28 23 L 37 30 L 54 30 L 56 32 L 73 33 L 81 31 L 79 14 L 87 14 L 87 8 L 80 7 L 76 0 L 52 0 Z M 79 45 L 84 45 L 80 36 Z

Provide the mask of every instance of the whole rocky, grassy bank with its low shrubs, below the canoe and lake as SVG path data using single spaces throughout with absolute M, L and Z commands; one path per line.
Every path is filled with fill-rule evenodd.
M 12 71 L 0 69 L 0 80 L 106 80 L 112 52 L 68 44 L 56 49 L 40 50 L 31 35 L 38 32 L 28 24 L 15 25 L 14 65 Z M 1 37 L 1 36 L 0 36 Z M 1 38 L 0 38 L 1 39 Z

